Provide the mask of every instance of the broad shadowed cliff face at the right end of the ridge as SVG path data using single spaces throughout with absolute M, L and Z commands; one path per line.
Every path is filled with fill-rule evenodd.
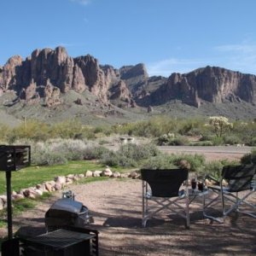
M 201 102 L 256 103 L 256 76 L 220 67 L 205 67 L 191 73 L 172 73 L 151 96 L 151 102 L 162 104 L 178 99 L 201 106 Z

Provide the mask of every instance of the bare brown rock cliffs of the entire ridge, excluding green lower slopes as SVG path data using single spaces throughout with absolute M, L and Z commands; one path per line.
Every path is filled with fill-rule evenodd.
M 15 55 L 0 67 L 0 96 L 14 90 L 26 104 L 60 105 L 69 90 L 90 92 L 102 104 L 151 108 L 172 100 L 200 108 L 204 102 L 256 104 L 256 76 L 221 67 L 204 67 L 167 78 L 148 77 L 146 67 L 100 65 L 91 55 L 71 57 L 63 47 Z M 17 101 L 16 99 L 16 101 Z M 81 101 L 78 102 L 81 103 Z M 15 103 L 15 102 L 14 102 Z

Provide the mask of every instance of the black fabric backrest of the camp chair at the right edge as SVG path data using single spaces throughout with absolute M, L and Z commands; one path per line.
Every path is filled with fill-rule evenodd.
M 239 192 L 251 189 L 256 166 L 224 166 L 222 177 L 229 183 L 230 192 Z

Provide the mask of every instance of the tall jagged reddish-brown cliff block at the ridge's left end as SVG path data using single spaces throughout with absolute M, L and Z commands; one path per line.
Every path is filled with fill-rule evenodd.
M 25 61 L 14 56 L 1 68 L 0 88 L 3 91 L 16 90 L 20 99 L 30 101 L 46 97 L 47 106 L 60 103 L 53 91 L 65 93 L 68 90 L 83 92 L 90 90 L 102 102 L 107 102 L 109 80 L 98 61 L 90 56 L 72 58 L 66 49 L 36 49 Z

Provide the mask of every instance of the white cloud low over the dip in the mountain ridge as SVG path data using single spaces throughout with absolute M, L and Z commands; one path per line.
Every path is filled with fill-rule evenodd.
M 147 64 L 149 76 L 161 75 L 164 77 L 169 77 L 172 73 L 188 73 L 198 67 L 205 66 L 207 66 L 207 63 L 202 60 L 177 58 L 170 58 Z

